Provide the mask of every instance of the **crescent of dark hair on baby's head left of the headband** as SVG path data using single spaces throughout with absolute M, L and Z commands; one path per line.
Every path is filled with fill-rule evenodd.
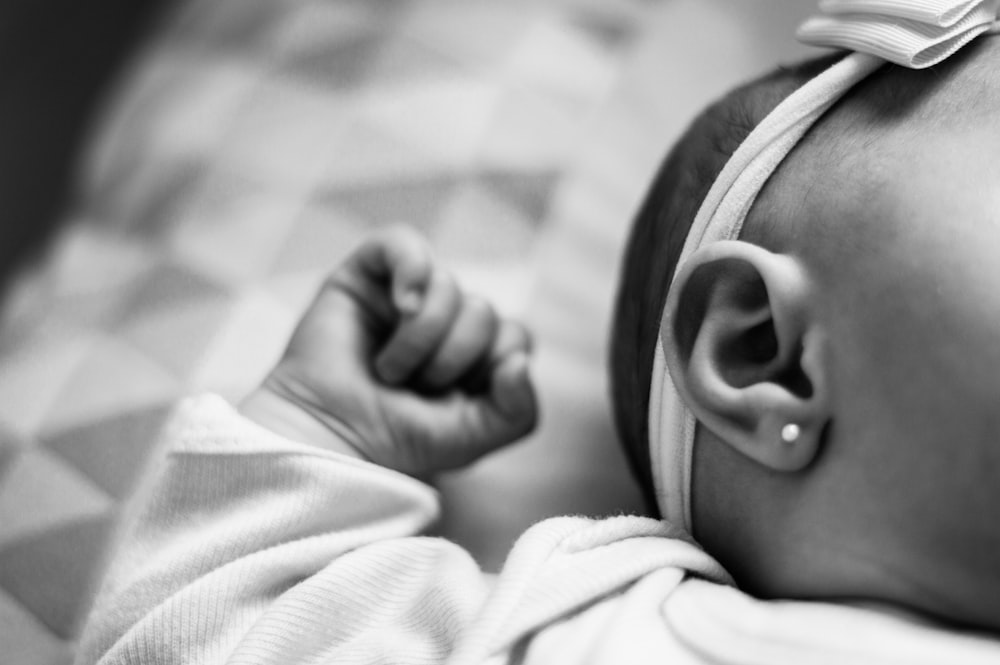
M 691 223 L 729 157 L 782 100 L 840 56 L 780 68 L 698 116 L 667 155 L 625 247 L 611 334 L 611 398 L 625 454 L 656 512 L 647 413 L 660 316 Z M 747 228 L 745 236 L 752 233 Z

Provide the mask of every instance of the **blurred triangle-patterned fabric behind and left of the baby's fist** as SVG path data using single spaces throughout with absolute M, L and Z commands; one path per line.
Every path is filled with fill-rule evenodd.
M 0 308 L 12 665 L 69 662 L 171 406 L 250 390 L 367 233 L 412 224 L 465 287 L 527 309 L 561 175 L 646 11 L 173 4 L 100 119 L 66 228 Z

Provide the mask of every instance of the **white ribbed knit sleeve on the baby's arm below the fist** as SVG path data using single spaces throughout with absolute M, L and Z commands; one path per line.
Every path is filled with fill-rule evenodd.
M 188 400 L 119 537 L 77 663 L 440 662 L 487 579 L 421 537 L 426 485 Z

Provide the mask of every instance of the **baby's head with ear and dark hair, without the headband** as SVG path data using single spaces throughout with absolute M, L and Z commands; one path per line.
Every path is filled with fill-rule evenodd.
M 855 86 L 768 180 L 740 240 L 698 250 L 669 299 L 730 155 L 835 58 L 712 106 L 638 216 L 612 347 L 619 431 L 652 497 L 666 306 L 670 375 L 699 423 L 694 535 L 749 591 L 1000 630 L 998 58 L 984 38 Z

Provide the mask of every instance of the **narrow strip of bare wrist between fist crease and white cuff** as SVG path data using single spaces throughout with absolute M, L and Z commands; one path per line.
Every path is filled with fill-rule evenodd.
M 367 459 L 309 409 L 281 395 L 266 383 L 247 395 L 238 406 L 244 418 L 279 436 L 330 452 Z

